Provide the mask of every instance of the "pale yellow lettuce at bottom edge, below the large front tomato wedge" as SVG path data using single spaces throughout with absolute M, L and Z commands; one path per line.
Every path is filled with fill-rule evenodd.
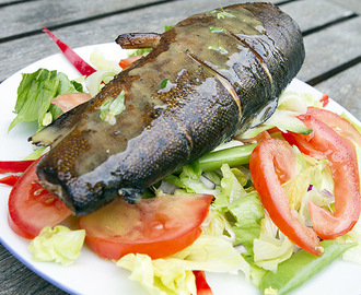
M 116 262 L 131 271 L 149 294 L 197 294 L 193 270 L 236 274 L 249 272 L 247 262 L 232 243 L 222 236 L 201 235 L 184 250 L 163 259 L 126 255 Z

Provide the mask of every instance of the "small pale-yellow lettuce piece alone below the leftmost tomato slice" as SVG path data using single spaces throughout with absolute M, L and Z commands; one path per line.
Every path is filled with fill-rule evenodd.
M 85 238 L 85 231 L 71 231 L 66 226 L 46 226 L 28 246 L 28 250 L 36 261 L 58 262 L 70 266 L 80 256 Z

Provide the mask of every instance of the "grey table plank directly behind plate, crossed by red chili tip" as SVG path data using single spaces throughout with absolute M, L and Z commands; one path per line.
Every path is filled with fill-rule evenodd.
M 155 8 L 144 8 L 125 14 L 55 30 L 56 35 L 71 47 L 112 43 L 121 33 L 127 32 L 163 32 L 165 25 L 198 12 L 218 8 L 221 3 L 238 3 L 238 0 L 202 0 L 175 1 L 160 4 Z M 175 14 L 174 11 L 177 11 Z M 26 46 L 24 46 L 26 44 Z M 28 36 L 0 44 L 0 60 L 11 60 L 11 63 L 0 62 L 0 81 L 46 56 L 59 52 L 46 34 Z

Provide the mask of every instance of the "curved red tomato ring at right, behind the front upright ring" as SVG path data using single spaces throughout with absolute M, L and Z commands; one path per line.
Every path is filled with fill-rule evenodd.
M 360 216 L 360 178 L 356 149 L 349 140 L 340 137 L 314 115 L 306 114 L 299 118 L 313 132 L 310 135 L 289 132 L 283 137 L 302 153 L 311 156 L 316 153 L 329 161 L 335 182 L 335 213 L 312 202 L 308 210 L 317 235 L 323 239 L 336 238 L 351 231 Z

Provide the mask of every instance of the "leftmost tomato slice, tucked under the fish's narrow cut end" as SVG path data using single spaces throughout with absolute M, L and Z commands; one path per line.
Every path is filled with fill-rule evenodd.
M 71 214 L 37 182 L 37 162 L 18 179 L 9 196 L 9 225 L 24 238 L 34 238 L 45 226 L 55 226 Z

